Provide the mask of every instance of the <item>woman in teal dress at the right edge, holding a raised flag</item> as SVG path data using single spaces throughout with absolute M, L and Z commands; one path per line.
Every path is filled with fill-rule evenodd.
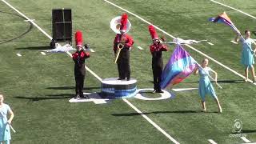
M 245 31 L 246 34 L 246 38 L 238 38 L 240 34 L 240 32 L 238 32 L 236 38 L 234 38 L 234 42 L 242 42 L 242 59 L 241 59 L 241 63 L 242 65 L 244 65 L 246 67 L 245 69 L 245 76 L 246 79 L 244 79 L 245 82 L 248 81 L 248 69 L 250 68 L 251 74 L 253 76 L 253 82 L 255 82 L 255 73 L 254 73 L 254 54 L 256 52 L 256 43 L 254 42 L 254 40 L 252 38 L 250 38 L 250 31 L 246 30 Z M 252 44 L 254 44 L 254 50 L 252 50 Z

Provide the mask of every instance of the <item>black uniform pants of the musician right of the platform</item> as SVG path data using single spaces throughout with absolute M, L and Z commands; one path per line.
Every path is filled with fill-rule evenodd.
M 162 67 L 152 66 L 154 76 L 154 90 L 161 90 L 160 82 L 162 80 Z

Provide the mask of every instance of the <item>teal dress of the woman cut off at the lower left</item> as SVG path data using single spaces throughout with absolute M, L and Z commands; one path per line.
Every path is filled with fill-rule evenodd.
M 10 126 L 7 124 L 7 113 L 10 110 L 10 106 L 3 103 L 0 108 L 0 141 L 10 140 Z

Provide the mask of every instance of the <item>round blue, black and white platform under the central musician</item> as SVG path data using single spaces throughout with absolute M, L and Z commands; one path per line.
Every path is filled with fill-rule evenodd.
M 102 80 L 102 96 L 106 98 L 130 98 L 137 93 L 137 80 L 118 80 L 118 78 L 106 78 Z

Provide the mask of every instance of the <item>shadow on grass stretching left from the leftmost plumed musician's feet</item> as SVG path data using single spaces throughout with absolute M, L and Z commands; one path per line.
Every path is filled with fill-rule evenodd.
M 48 97 L 22 97 L 22 96 L 17 96 L 17 97 L 14 97 L 14 98 L 28 99 L 32 102 L 36 102 L 36 101 L 48 100 L 48 99 L 73 98 L 74 94 L 48 94 L 46 96 L 48 96 Z

